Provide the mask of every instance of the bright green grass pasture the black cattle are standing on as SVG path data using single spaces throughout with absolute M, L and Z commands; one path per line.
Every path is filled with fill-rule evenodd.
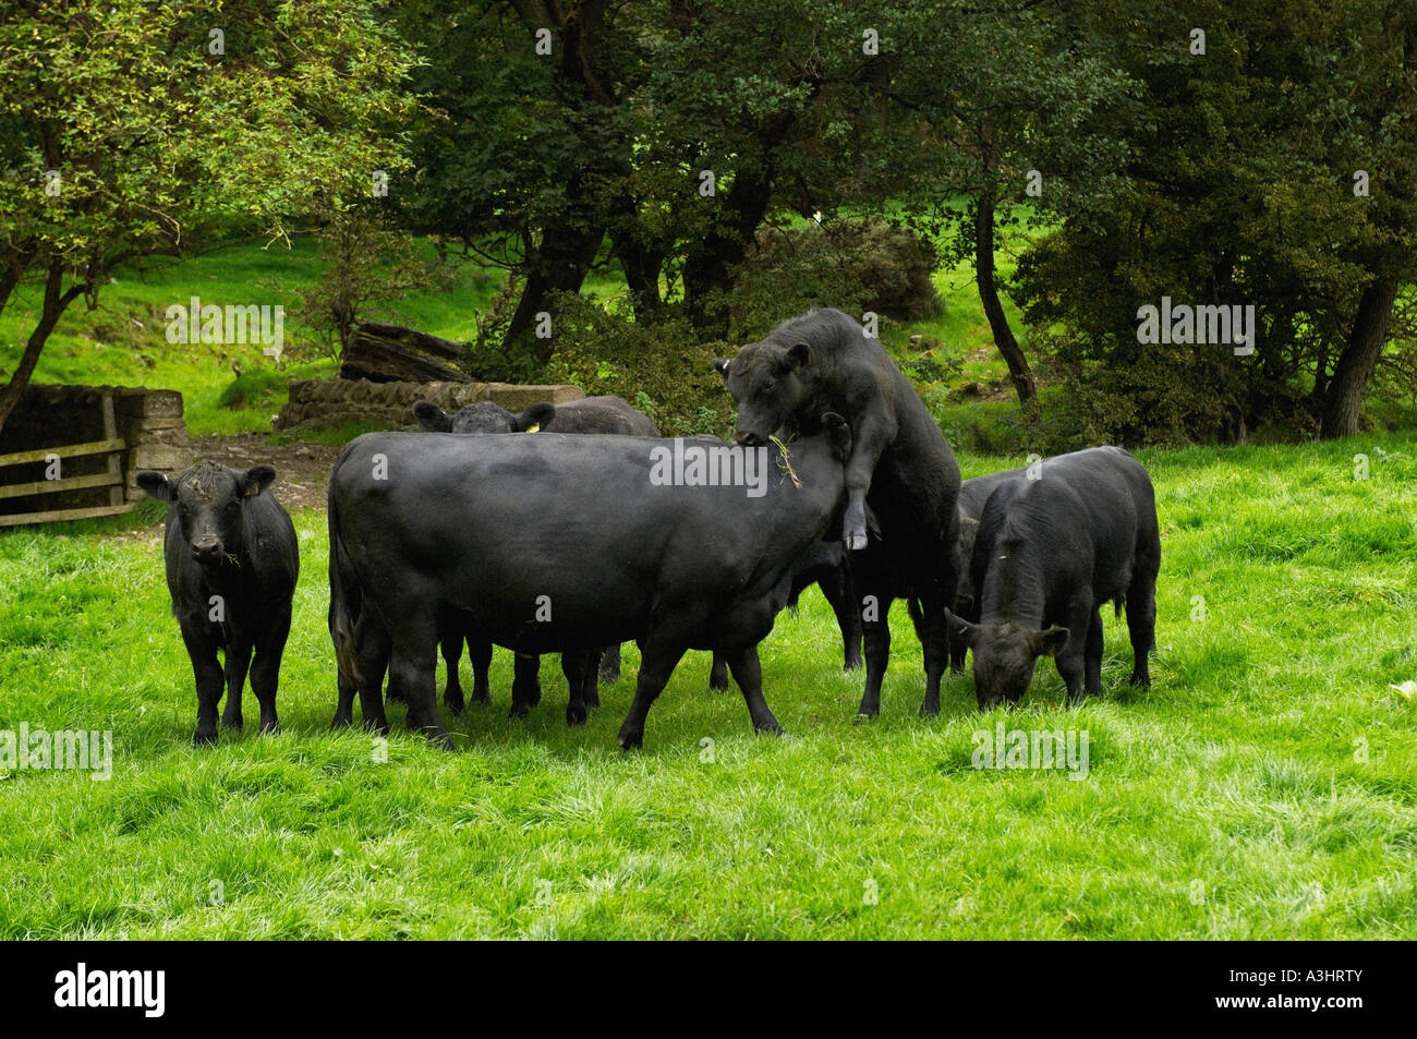
M 693 653 L 633 754 L 633 649 L 587 729 L 551 659 L 509 721 L 499 653 L 458 753 L 401 710 L 387 761 L 332 736 L 313 512 L 283 734 L 255 736 L 248 692 L 249 731 L 193 750 L 154 529 L 3 534 L 0 730 L 112 730 L 113 765 L 0 773 L 0 937 L 1417 937 L 1417 704 L 1389 687 L 1417 679 L 1417 435 L 1144 461 L 1165 551 L 1149 692 L 1108 614 L 1105 699 L 1068 710 L 1044 666 L 1020 709 L 979 714 L 956 676 L 924 721 L 901 614 L 884 714 L 856 723 L 813 591 L 762 646 L 789 738 L 754 736 Z M 999 721 L 1085 730 L 1085 778 L 973 768 Z

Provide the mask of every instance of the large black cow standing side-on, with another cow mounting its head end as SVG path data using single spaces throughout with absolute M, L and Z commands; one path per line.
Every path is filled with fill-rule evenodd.
M 489 437 L 476 451 L 438 434 L 354 439 L 329 490 L 336 717 L 357 687 L 366 724 L 387 730 L 388 659 L 408 724 L 448 746 L 434 668 L 439 624 L 458 617 L 517 652 L 561 652 L 572 724 L 587 716 L 587 655 L 639 641 L 622 747 L 642 744 L 650 704 L 694 648 L 723 652 L 754 727 L 781 731 L 757 646 L 842 507 L 850 431 L 837 415 L 819 425 L 782 472 L 768 448 L 713 448 L 707 483 L 670 472 L 670 441 L 642 437 Z

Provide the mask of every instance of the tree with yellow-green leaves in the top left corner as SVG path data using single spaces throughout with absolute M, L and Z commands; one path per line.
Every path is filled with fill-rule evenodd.
M 397 173 L 410 62 L 368 3 L 0 9 L 0 310 L 43 283 L 0 427 L 50 333 L 119 264 L 242 234 Z

